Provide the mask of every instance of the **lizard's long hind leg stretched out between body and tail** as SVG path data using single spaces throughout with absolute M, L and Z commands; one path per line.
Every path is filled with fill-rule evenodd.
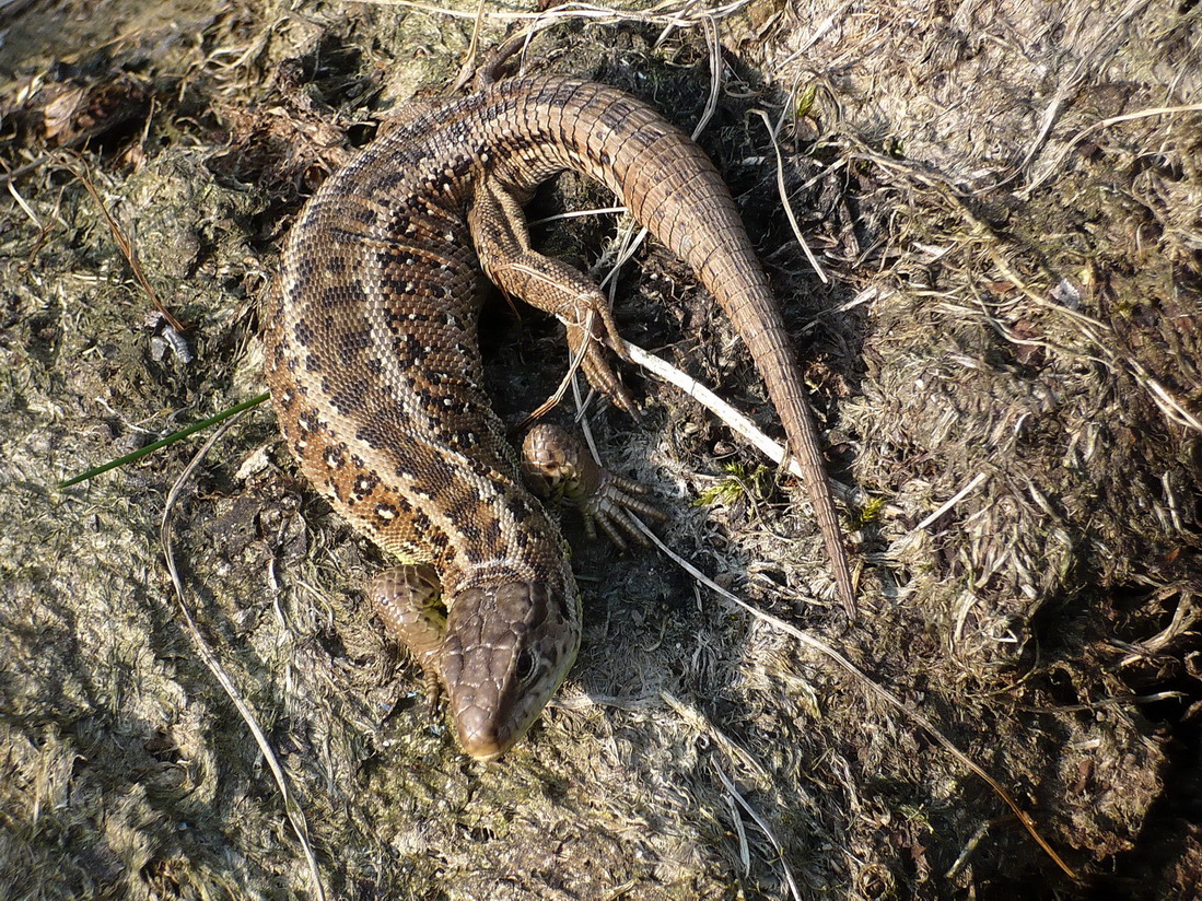
M 522 204 L 505 187 L 484 180 L 476 189 L 468 225 L 480 264 L 501 291 L 555 316 L 567 328 L 567 346 L 589 384 L 631 416 L 635 401 L 603 351 L 627 358 L 605 294 L 588 276 L 530 247 Z

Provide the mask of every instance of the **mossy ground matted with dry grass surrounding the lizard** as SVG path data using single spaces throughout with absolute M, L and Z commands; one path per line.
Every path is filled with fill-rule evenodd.
M 262 406 L 172 506 L 172 547 L 328 896 L 1202 891 L 1202 7 L 932 6 L 733 11 L 701 136 L 808 362 L 832 471 L 858 491 L 861 621 L 843 627 L 804 493 L 710 414 L 627 371 L 644 420 L 593 428 L 655 485 L 678 553 L 921 711 L 1079 881 L 861 679 L 664 557 L 584 547 L 571 521 L 579 662 L 502 764 L 465 760 L 363 603 L 383 561 L 298 481 Z M 528 66 L 701 118 L 697 18 L 664 34 L 662 8 L 559 14 Z M 54 484 L 263 389 L 256 314 L 281 235 L 346 148 L 454 79 L 471 30 L 371 4 L 0 4 L 0 896 L 316 897 L 163 565 L 196 444 Z M 826 281 L 756 109 L 781 124 Z M 564 179 L 536 205 L 608 203 Z M 611 231 L 536 239 L 594 262 Z M 487 316 L 492 388 L 517 416 L 554 388 L 560 339 L 504 304 Z M 626 267 L 618 320 L 775 431 L 728 326 L 662 250 Z

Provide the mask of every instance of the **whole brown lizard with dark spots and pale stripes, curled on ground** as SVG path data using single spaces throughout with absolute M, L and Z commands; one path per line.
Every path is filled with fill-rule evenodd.
M 590 384 L 632 402 L 608 304 L 530 246 L 522 205 L 575 169 L 607 185 L 731 318 L 799 457 L 853 610 L 846 551 L 802 376 L 767 276 L 714 165 L 649 105 L 560 76 L 477 82 L 417 102 L 298 215 L 263 311 L 266 377 L 310 483 L 399 566 L 368 586 L 386 629 L 446 697 L 462 750 L 495 760 L 571 668 L 581 598 L 558 525 L 523 466 L 614 535 L 654 513 L 642 487 L 537 426 L 519 463 L 482 388 L 484 285 L 555 315 Z

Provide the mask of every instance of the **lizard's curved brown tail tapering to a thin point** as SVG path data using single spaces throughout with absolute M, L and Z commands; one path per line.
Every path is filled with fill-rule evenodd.
M 855 615 L 851 569 L 814 416 L 768 279 L 730 190 L 706 153 L 642 101 L 599 84 L 528 83 L 528 125 L 558 162 L 607 184 L 662 244 L 683 258 L 746 344 L 802 464 L 839 597 Z M 540 102 L 540 100 L 542 102 Z

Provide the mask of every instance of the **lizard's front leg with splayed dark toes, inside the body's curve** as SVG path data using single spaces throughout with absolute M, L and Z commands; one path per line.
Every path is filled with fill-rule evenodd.
M 668 515 L 641 499 L 649 489 L 633 479 L 599 466 L 571 435 L 557 425 L 542 423 L 526 432 L 522 442 L 522 466 L 543 496 L 566 497 L 579 509 L 584 531 L 596 538 L 597 527 L 623 550 L 626 538 L 647 547 L 647 536 L 631 514 L 657 521 Z

